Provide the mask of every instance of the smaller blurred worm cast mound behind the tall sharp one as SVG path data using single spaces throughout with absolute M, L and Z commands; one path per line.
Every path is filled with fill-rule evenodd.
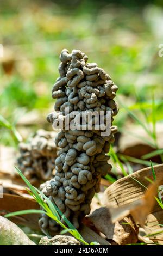
M 58 150 L 54 144 L 55 135 L 53 131 L 38 130 L 27 143 L 19 144 L 16 165 L 33 185 L 53 178 Z

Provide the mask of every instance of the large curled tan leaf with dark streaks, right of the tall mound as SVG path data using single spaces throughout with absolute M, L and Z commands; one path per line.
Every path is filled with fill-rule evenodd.
M 163 164 L 154 166 L 154 170 L 157 182 L 154 182 L 149 187 L 146 177 L 153 180 L 151 167 L 130 174 L 106 189 L 105 203 L 111 205 L 109 209 L 114 215 L 114 221 L 120 220 L 130 213 L 137 223 L 140 223 L 140 225 L 145 224 L 146 233 L 153 234 L 158 229 L 161 231 L 159 224 L 163 223 L 162 209 L 156 203 L 154 197 L 158 192 L 158 185 L 163 184 Z M 139 182 L 144 186 L 140 185 Z M 148 187 L 148 191 L 146 187 Z M 161 243 L 163 233 L 156 235 L 156 238 Z

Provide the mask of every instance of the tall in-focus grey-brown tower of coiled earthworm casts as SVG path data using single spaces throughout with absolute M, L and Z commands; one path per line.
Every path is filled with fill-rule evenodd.
M 87 59 L 79 50 L 70 54 L 64 49 L 60 54 L 60 77 L 52 89 L 52 97 L 56 99 L 55 112 L 47 117 L 53 126 L 62 121 L 61 131 L 55 138 L 55 145 L 60 150 L 55 159 L 54 178 L 40 186 L 40 190 L 76 228 L 90 212 L 91 200 L 95 192 L 99 192 L 101 176 L 111 169 L 107 153 L 117 132 L 112 121 L 118 112 L 114 101 L 118 87 L 102 68 L 96 63 L 87 63 Z M 95 117 L 91 127 L 89 121 L 84 124 L 74 121 L 74 113 L 78 113 L 80 119 L 94 112 L 104 113 L 104 124 L 109 119 L 107 113 L 110 113 L 111 131 L 107 136 L 103 135 L 103 129 L 96 129 Z M 70 121 L 74 121 L 73 129 L 70 126 L 67 128 Z M 46 215 L 42 215 L 39 224 L 42 230 L 58 229 L 57 223 Z

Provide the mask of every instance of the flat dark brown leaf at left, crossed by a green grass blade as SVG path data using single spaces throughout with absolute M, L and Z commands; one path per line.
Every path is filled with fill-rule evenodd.
M 0 215 L 3 216 L 9 212 L 40 209 L 39 204 L 34 200 L 15 196 L 11 194 L 3 194 L 3 198 L 0 199 Z M 25 225 L 34 230 L 40 230 L 38 225 L 39 214 L 27 214 L 21 216 L 14 216 L 11 221 L 16 224 Z

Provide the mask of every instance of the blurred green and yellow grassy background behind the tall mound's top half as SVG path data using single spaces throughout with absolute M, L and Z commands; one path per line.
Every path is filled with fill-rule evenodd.
M 141 120 L 162 121 L 163 3 L 161 1 L 0 1 L 1 115 L 23 138 L 40 127 L 51 130 L 51 90 L 62 48 L 77 48 L 104 68 L 119 86 L 120 129 Z M 122 105 L 124 106 L 122 106 Z M 142 111 L 140 111 L 140 108 Z M 0 120 L 1 121 L 1 120 Z M 5 127 L 0 143 L 17 145 Z

